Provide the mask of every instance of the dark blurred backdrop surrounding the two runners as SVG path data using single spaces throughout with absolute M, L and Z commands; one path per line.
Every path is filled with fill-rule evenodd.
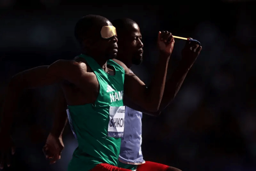
M 158 60 L 157 32 L 201 42 L 201 51 L 179 93 L 159 117 L 143 115 L 145 160 L 182 171 L 255 171 L 255 3 L 185 1 L 107 4 L 101 1 L 0 0 L 0 100 L 12 75 L 80 54 L 74 26 L 87 14 L 136 21 L 144 61 L 132 70 L 150 83 Z M 175 39 L 168 78 L 185 40 Z M 62 158 L 53 165 L 42 152 L 51 130 L 58 85 L 26 90 L 13 130 L 17 146 L 5 170 L 67 170 L 77 142 L 67 124 Z

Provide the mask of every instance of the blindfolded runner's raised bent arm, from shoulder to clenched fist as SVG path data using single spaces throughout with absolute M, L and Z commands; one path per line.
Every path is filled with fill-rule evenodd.
M 128 99 L 128 101 L 132 101 L 143 110 L 150 112 L 158 111 L 163 97 L 167 67 L 174 45 L 172 34 L 167 31 L 159 32 L 157 44 L 160 51 L 159 60 L 156 64 L 156 71 L 152 82 L 148 88 L 124 64 L 121 64 L 125 70 L 124 104 L 126 104 L 125 101 Z

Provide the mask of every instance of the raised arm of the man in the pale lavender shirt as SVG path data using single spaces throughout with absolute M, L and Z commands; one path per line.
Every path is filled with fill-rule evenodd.
M 124 103 L 127 106 L 132 106 L 132 109 L 141 111 L 143 113 L 158 116 L 174 99 L 177 95 L 180 87 L 188 74 L 189 69 L 193 66 L 197 56 L 202 50 L 202 46 L 196 44 L 196 42 L 187 41 L 184 49 L 182 50 L 182 60 L 178 68 L 173 72 L 171 78 L 165 83 L 164 95 L 158 111 L 150 112 L 143 110 L 140 106 L 134 104 L 131 100 L 127 99 Z

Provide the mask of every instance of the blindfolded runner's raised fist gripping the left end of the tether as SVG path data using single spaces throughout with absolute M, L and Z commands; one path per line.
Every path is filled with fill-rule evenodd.
M 168 31 L 158 32 L 157 46 L 160 52 L 170 56 L 174 46 L 172 33 Z

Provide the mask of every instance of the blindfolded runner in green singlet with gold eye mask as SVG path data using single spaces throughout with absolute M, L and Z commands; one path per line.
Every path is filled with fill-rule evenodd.
M 76 24 L 75 36 L 83 55 L 75 60 L 58 60 L 50 66 L 28 69 L 12 77 L 2 113 L 0 168 L 5 163 L 10 166 L 10 154 L 14 153 L 12 118 L 22 90 L 61 83 L 79 142 L 68 170 L 127 170 L 116 167 L 124 109 L 121 91 L 144 110 L 157 111 L 174 39 L 167 31 L 158 33 L 159 61 L 152 83 L 147 88 L 124 63 L 114 59 L 117 53 L 114 33 L 115 28 L 107 18 L 96 15 L 81 18 Z M 108 80 L 110 77 L 112 79 Z M 58 137 L 59 131 L 52 133 Z

